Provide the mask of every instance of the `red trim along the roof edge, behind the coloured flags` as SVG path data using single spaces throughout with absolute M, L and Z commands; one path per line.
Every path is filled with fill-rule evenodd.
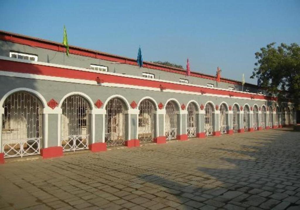
M 25 36 L 25 35 L 21 35 L 21 34 L 17 34 L 17 33 L 1 31 L 1 30 L 0 30 L 0 40 L 14 42 L 14 43 L 22 44 L 22 45 L 29 45 L 32 47 L 41 47 L 44 49 L 55 50 L 58 52 L 65 51 L 64 45 L 62 45 L 59 42 L 52 42 L 52 41 L 45 40 L 45 39 L 39 39 L 39 38 L 31 37 L 31 36 Z M 135 66 L 137 65 L 137 62 L 135 59 L 118 56 L 118 55 L 114 55 L 114 54 L 109 54 L 109 53 L 104 53 L 104 52 L 100 52 L 100 51 L 96 51 L 96 50 L 89 50 L 89 49 L 76 47 L 76 46 L 72 46 L 72 45 L 69 46 L 69 50 L 70 50 L 71 54 L 75 54 L 75 55 L 87 56 L 87 57 L 103 59 L 103 60 L 113 61 L 113 62 L 119 62 L 119 63 L 128 64 L 128 65 L 135 65 Z M 159 64 L 152 63 L 152 62 L 146 62 L 146 61 L 143 62 L 143 67 L 172 72 L 172 73 L 178 73 L 178 74 L 182 74 L 182 75 L 185 75 L 185 73 L 186 73 L 185 70 L 183 70 L 183 69 L 168 67 L 168 66 L 159 65 Z M 215 80 L 215 76 L 203 74 L 203 73 L 197 73 L 197 72 L 191 72 L 190 76 Z M 221 78 L 221 82 L 226 82 L 226 83 L 234 84 L 234 85 L 241 85 L 241 82 L 239 82 L 239 81 L 232 80 L 232 79 L 226 79 L 226 78 Z M 245 84 L 256 88 L 256 85 L 253 85 L 250 83 L 245 83 Z

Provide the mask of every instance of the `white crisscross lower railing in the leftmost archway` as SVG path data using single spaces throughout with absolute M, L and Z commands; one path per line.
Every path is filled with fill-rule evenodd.
M 4 157 L 23 157 L 40 154 L 41 138 L 2 140 Z

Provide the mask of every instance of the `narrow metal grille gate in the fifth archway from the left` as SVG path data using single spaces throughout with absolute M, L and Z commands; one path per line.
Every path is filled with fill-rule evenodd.
M 167 140 L 176 139 L 177 135 L 177 114 L 175 106 L 172 101 L 169 101 L 166 105 L 165 136 Z

